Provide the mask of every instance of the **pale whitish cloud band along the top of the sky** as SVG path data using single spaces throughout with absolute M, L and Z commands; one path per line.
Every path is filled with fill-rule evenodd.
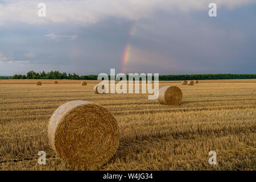
M 6 1 L 4 1 L 6 3 Z M 138 20 L 152 18 L 155 13 L 162 11 L 170 13 L 178 11 L 188 13 L 208 8 L 210 0 L 88 0 L 88 1 L 50 1 L 46 0 L 46 17 L 38 17 L 37 5 L 40 1 L 22 0 L 0 4 L 0 24 L 11 21 L 28 24 L 70 23 L 76 22 L 91 25 L 109 17 Z M 218 7 L 226 6 L 230 9 L 255 3 L 255 0 L 216 0 Z

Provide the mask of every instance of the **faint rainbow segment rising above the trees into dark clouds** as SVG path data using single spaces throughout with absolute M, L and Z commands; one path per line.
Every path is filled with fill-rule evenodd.
M 137 22 L 134 22 L 133 26 L 131 26 L 131 29 L 129 31 L 129 35 L 130 35 L 129 42 L 126 44 L 125 50 L 123 51 L 122 68 L 121 68 L 122 73 L 125 73 L 125 67 L 127 62 L 129 61 L 129 57 L 131 53 L 131 37 L 135 35 L 136 26 L 137 26 Z

